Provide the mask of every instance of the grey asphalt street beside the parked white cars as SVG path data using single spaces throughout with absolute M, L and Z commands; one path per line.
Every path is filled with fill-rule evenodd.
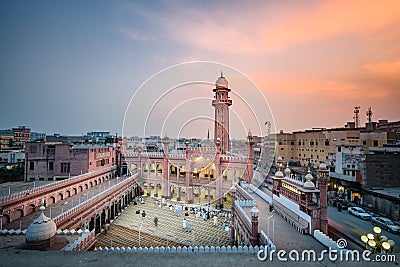
M 328 206 L 329 224 L 337 228 L 340 232 L 350 236 L 355 241 L 361 241 L 361 236 L 373 233 L 373 225 L 370 220 L 362 220 L 356 216 L 349 214 L 347 210 L 338 212 L 337 208 Z M 400 252 L 400 235 L 382 230 L 381 235 L 392 239 L 395 245 L 394 252 Z

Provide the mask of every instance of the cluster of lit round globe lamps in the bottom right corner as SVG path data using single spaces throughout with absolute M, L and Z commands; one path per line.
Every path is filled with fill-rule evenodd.
M 375 226 L 373 228 L 375 234 L 368 233 L 361 236 L 361 241 L 365 244 L 365 248 L 372 253 L 393 252 L 394 241 L 388 240 L 387 236 L 381 235 L 381 228 Z

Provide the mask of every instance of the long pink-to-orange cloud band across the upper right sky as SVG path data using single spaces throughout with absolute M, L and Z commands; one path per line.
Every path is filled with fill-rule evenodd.
M 268 2 L 243 6 L 242 10 L 235 10 L 234 19 L 220 16 L 219 10 L 205 15 L 181 7 L 185 15 L 168 17 L 165 24 L 180 42 L 231 54 L 275 51 L 334 36 L 370 34 L 400 25 L 400 1 L 397 0 L 341 0 L 306 5 L 307 8 L 299 8 L 292 4 L 285 9 Z M 273 19 L 262 16 L 269 9 L 272 9 L 270 13 L 276 13 Z

